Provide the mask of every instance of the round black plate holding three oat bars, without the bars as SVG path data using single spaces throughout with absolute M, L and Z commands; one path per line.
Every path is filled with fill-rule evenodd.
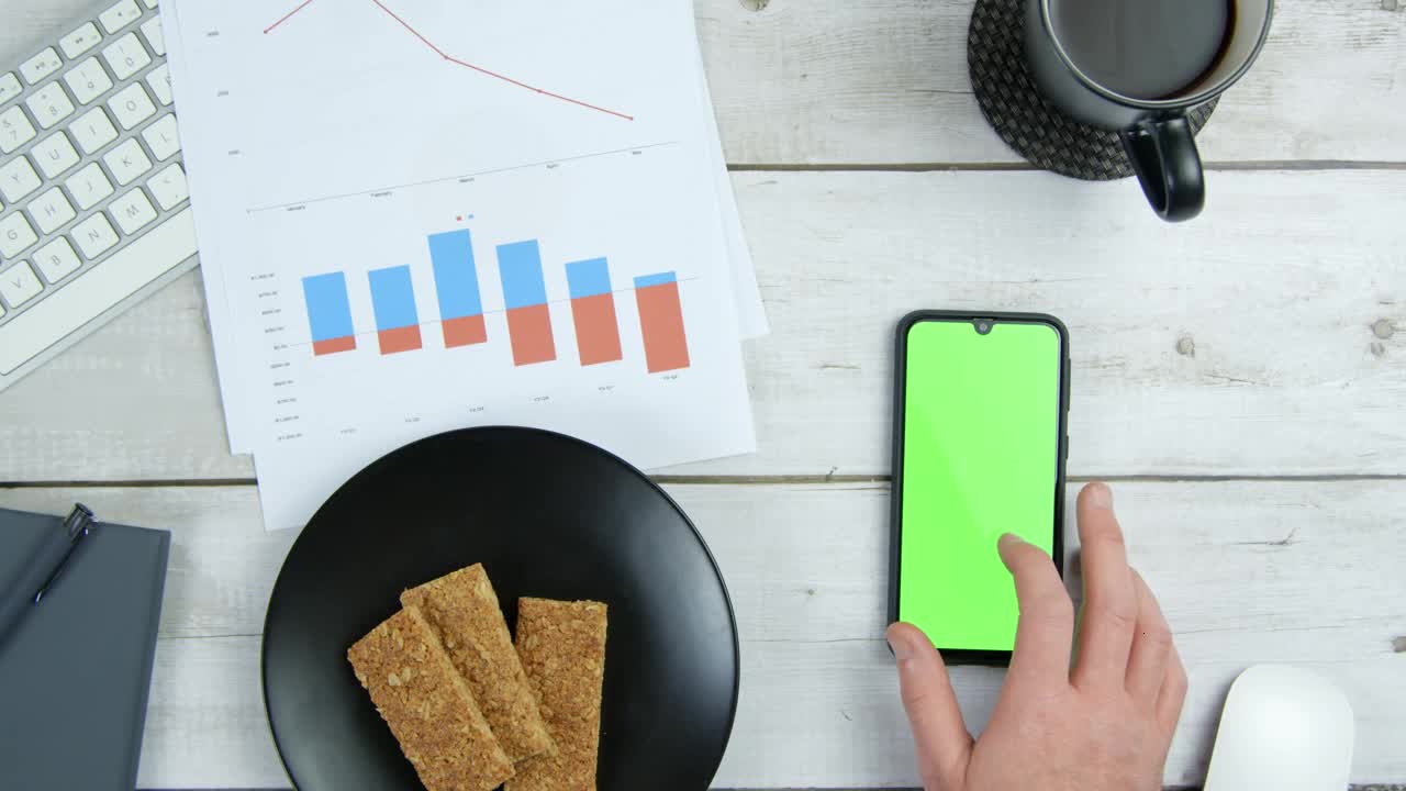
M 347 646 L 402 590 L 470 563 L 519 597 L 609 605 L 600 791 L 703 791 L 737 712 L 737 624 L 713 556 L 643 473 L 520 428 L 433 436 L 343 486 L 288 552 L 264 622 L 264 704 L 301 791 L 420 788 Z

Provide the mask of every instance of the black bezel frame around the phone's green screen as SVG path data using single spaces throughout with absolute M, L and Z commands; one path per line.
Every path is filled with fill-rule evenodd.
M 898 621 L 898 591 L 901 590 L 900 567 L 903 557 L 903 443 L 904 443 L 904 410 L 907 404 L 907 367 L 908 367 L 908 334 L 912 328 L 925 321 L 965 322 L 977 319 L 991 319 L 995 324 L 1042 324 L 1054 329 L 1060 345 L 1060 386 L 1059 386 L 1059 448 L 1054 462 L 1054 524 L 1053 559 L 1060 578 L 1064 578 L 1064 467 L 1069 462 L 1069 396 L 1070 396 L 1070 353 L 1069 329 L 1059 318 L 1039 312 L 981 312 L 981 311 L 914 311 L 898 322 L 897 345 L 894 353 L 894 400 L 893 400 L 893 484 L 890 494 L 889 514 L 889 622 Z M 976 332 L 976 328 L 972 328 Z M 995 552 L 995 548 L 991 548 Z M 977 649 L 943 649 L 942 657 L 948 664 L 988 664 L 1005 666 L 1011 662 L 1008 650 L 977 650 Z

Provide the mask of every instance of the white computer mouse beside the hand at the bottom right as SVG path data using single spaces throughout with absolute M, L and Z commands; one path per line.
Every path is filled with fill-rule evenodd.
M 1343 791 L 1353 707 L 1327 678 L 1258 664 L 1230 685 L 1205 791 Z

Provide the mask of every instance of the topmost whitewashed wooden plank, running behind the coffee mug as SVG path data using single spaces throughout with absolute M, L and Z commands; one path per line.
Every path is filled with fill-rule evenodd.
M 101 6 L 98 3 L 97 6 Z M 761 11 L 752 7 L 762 6 Z M 1017 162 L 972 96 L 972 0 L 697 0 L 733 163 Z M 1209 160 L 1403 160 L 1396 0 L 1278 4 L 1268 48 L 1204 135 Z M 67 32 L 89 0 L 0 0 L 0 58 Z

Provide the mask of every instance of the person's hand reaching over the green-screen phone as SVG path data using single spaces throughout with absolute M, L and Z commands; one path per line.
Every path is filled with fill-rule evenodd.
M 1078 495 L 1084 611 L 1049 555 L 1017 536 L 1000 552 L 1021 621 L 991 721 L 973 740 L 946 666 L 910 624 L 889 628 L 927 791 L 1153 791 L 1187 697 L 1187 671 L 1147 584 L 1128 566 L 1112 493 Z

